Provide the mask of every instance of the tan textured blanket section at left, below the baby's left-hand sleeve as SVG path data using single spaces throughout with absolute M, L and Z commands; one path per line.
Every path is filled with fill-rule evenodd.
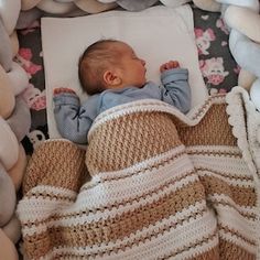
M 45 142 L 29 162 L 23 193 L 29 193 L 39 184 L 55 184 L 55 187 L 78 192 L 86 175 L 86 165 L 80 161 L 84 155 L 85 152 L 71 142 Z

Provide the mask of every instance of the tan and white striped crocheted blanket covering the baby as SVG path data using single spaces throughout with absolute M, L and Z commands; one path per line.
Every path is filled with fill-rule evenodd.
M 18 205 L 26 257 L 257 259 L 254 113 L 240 88 L 187 116 L 147 99 L 101 113 L 87 151 L 46 141 Z

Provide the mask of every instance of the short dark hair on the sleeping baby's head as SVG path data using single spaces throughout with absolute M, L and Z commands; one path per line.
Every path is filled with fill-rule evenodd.
M 78 61 L 78 78 L 83 90 L 88 95 L 101 93 L 106 89 L 102 79 L 104 72 L 110 65 L 118 63 L 119 53 L 111 43 L 117 40 L 99 40 L 89 45 Z

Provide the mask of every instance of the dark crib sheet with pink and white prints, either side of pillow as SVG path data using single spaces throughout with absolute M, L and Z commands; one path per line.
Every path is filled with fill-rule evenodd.
M 220 13 L 203 11 L 193 4 L 192 8 L 199 66 L 208 93 L 228 93 L 237 85 L 239 72 L 228 47 L 229 32 Z M 18 31 L 18 35 L 20 50 L 15 59 L 30 77 L 30 85 L 22 97 L 32 115 L 31 130 L 22 143 L 26 153 L 32 154 L 42 141 L 48 139 L 40 21 L 35 21 L 31 28 Z

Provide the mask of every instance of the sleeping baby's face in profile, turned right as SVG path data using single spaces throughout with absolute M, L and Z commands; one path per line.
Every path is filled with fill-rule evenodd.
M 145 62 L 139 58 L 128 44 L 120 43 L 119 48 L 121 53 L 122 84 L 124 86 L 133 85 L 136 87 L 142 87 L 147 82 Z

